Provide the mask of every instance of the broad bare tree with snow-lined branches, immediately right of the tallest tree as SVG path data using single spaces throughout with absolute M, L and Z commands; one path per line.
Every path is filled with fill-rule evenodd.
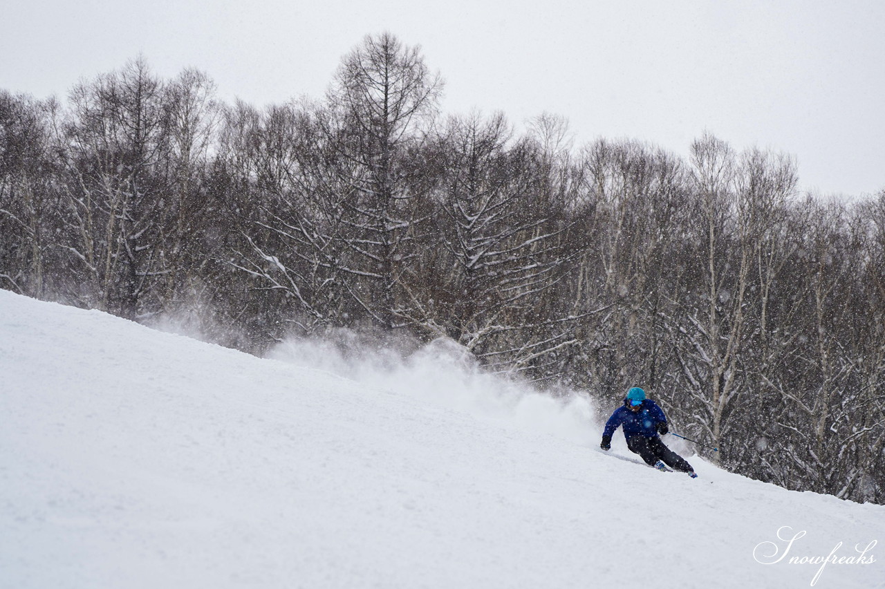
M 436 217 L 450 266 L 438 269 L 435 315 L 425 316 L 489 367 L 537 376 L 542 358 L 575 342 L 568 317 L 545 306 L 565 264 L 564 226 L 543 152 L 511 139 L 501 114 L 450 120 Z

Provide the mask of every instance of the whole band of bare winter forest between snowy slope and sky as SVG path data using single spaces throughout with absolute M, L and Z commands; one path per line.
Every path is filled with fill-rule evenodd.
M 731 470 L 885 502 L 885 190 L 803 195 L 791 157 L 711 134 L 575 148 L 442 89 L 380 34 L 262 109 L 143 58 L 64 104 L 0 90 L 0 287 L 257 354 L 446 337 L 604 407 L 643 386 Z

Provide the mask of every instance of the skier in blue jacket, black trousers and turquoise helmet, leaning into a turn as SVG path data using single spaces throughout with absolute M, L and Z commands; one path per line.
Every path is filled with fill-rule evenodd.
M 610 449 L 612 434 L 621 425 L 624 426 L 627 447 L 634 454 L 642 456 L 646 464 L 658 470 L 669 470 L 667 466 L 670 466 L 673 470 L 689 473 L 691 478 L 697 477 L 691 464 L 661 441 L 658 433 L 665 434 L 669 431 L 664 411 L 658 407 L 658 403 L 646 399 L 645 391 L 638 386 L 627 391 L 624 406 L 615 409 L 612 417 L 605 423 L 603 442 L 599 447 Z

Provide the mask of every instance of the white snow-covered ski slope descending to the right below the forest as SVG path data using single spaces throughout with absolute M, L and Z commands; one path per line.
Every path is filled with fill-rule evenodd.
M 0 291 L 0 587 L 885 587 L 883 506 L 605 455 L 445 345 L 275 356 Z

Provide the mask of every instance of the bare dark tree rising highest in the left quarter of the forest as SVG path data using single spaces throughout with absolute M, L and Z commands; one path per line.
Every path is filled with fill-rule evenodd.
M 71 92 L 65 167 L 68 250 L 89 276 L 88 304 L 135 317 L 162 271 L 154 245 L 163 203 L 162 83 L 142 58 Z

